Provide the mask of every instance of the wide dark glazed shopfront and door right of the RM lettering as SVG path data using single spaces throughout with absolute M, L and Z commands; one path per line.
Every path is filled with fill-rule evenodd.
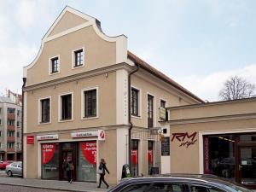
M 204 136 L 204 172 L 256 189 L 256 133 Z

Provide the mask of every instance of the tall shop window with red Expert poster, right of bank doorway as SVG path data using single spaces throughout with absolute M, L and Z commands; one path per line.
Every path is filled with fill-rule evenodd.
M 96 182 L 96 141 L 79 143 L 79 181 Z

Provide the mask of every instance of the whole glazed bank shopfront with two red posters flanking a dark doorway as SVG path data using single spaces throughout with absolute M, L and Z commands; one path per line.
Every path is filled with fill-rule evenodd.
M 64 162 L 73 161 L 73 180 L 96 182 L 96 140 L 41 144 L 41 177 L 67 180 Z

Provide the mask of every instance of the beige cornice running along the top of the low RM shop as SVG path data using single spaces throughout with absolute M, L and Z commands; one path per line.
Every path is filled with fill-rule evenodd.
M 178 120 L 160 121 L 160 124 L 168 124 L 168 125 L 185 125 L 186 124 L 187 125 L 187 124 L 209 123 L 209 122 L 241 120 L 241 119 L 256 119 L 256 113 L 243 113 L 243 114 L 204 117 L 204 118 L 195 118 L 195 119 L 178 119 Z

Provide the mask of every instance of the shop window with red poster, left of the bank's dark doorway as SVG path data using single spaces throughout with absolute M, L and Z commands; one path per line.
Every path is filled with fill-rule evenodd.
M 59 178 L 59 145 L 57 143 L 44 143 L 41 146 L 42 178 Z

